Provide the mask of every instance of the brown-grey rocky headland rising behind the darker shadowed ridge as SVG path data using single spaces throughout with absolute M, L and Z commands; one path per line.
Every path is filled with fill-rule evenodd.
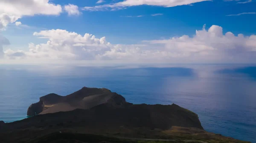
M 81 90 L 67 96 L 49 94 L 40 98 L 38 103 L 30 105 L 28 116 L 55 112 L 72 111 L 74 109 L 90 109 L 100 104 L 111 104 L 115 107 L 131 105 L 121 95 L 102 88 L 83 87 Z

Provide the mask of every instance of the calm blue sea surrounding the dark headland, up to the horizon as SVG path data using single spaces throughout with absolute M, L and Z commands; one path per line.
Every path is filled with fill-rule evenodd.
M 134 104 L 178 104 L 209 132 L 256 143 L 256 66 L 172 65 L 168 68 L 0 65 L 0 120 L 26 118 L 49 93 L 105 87 Z

